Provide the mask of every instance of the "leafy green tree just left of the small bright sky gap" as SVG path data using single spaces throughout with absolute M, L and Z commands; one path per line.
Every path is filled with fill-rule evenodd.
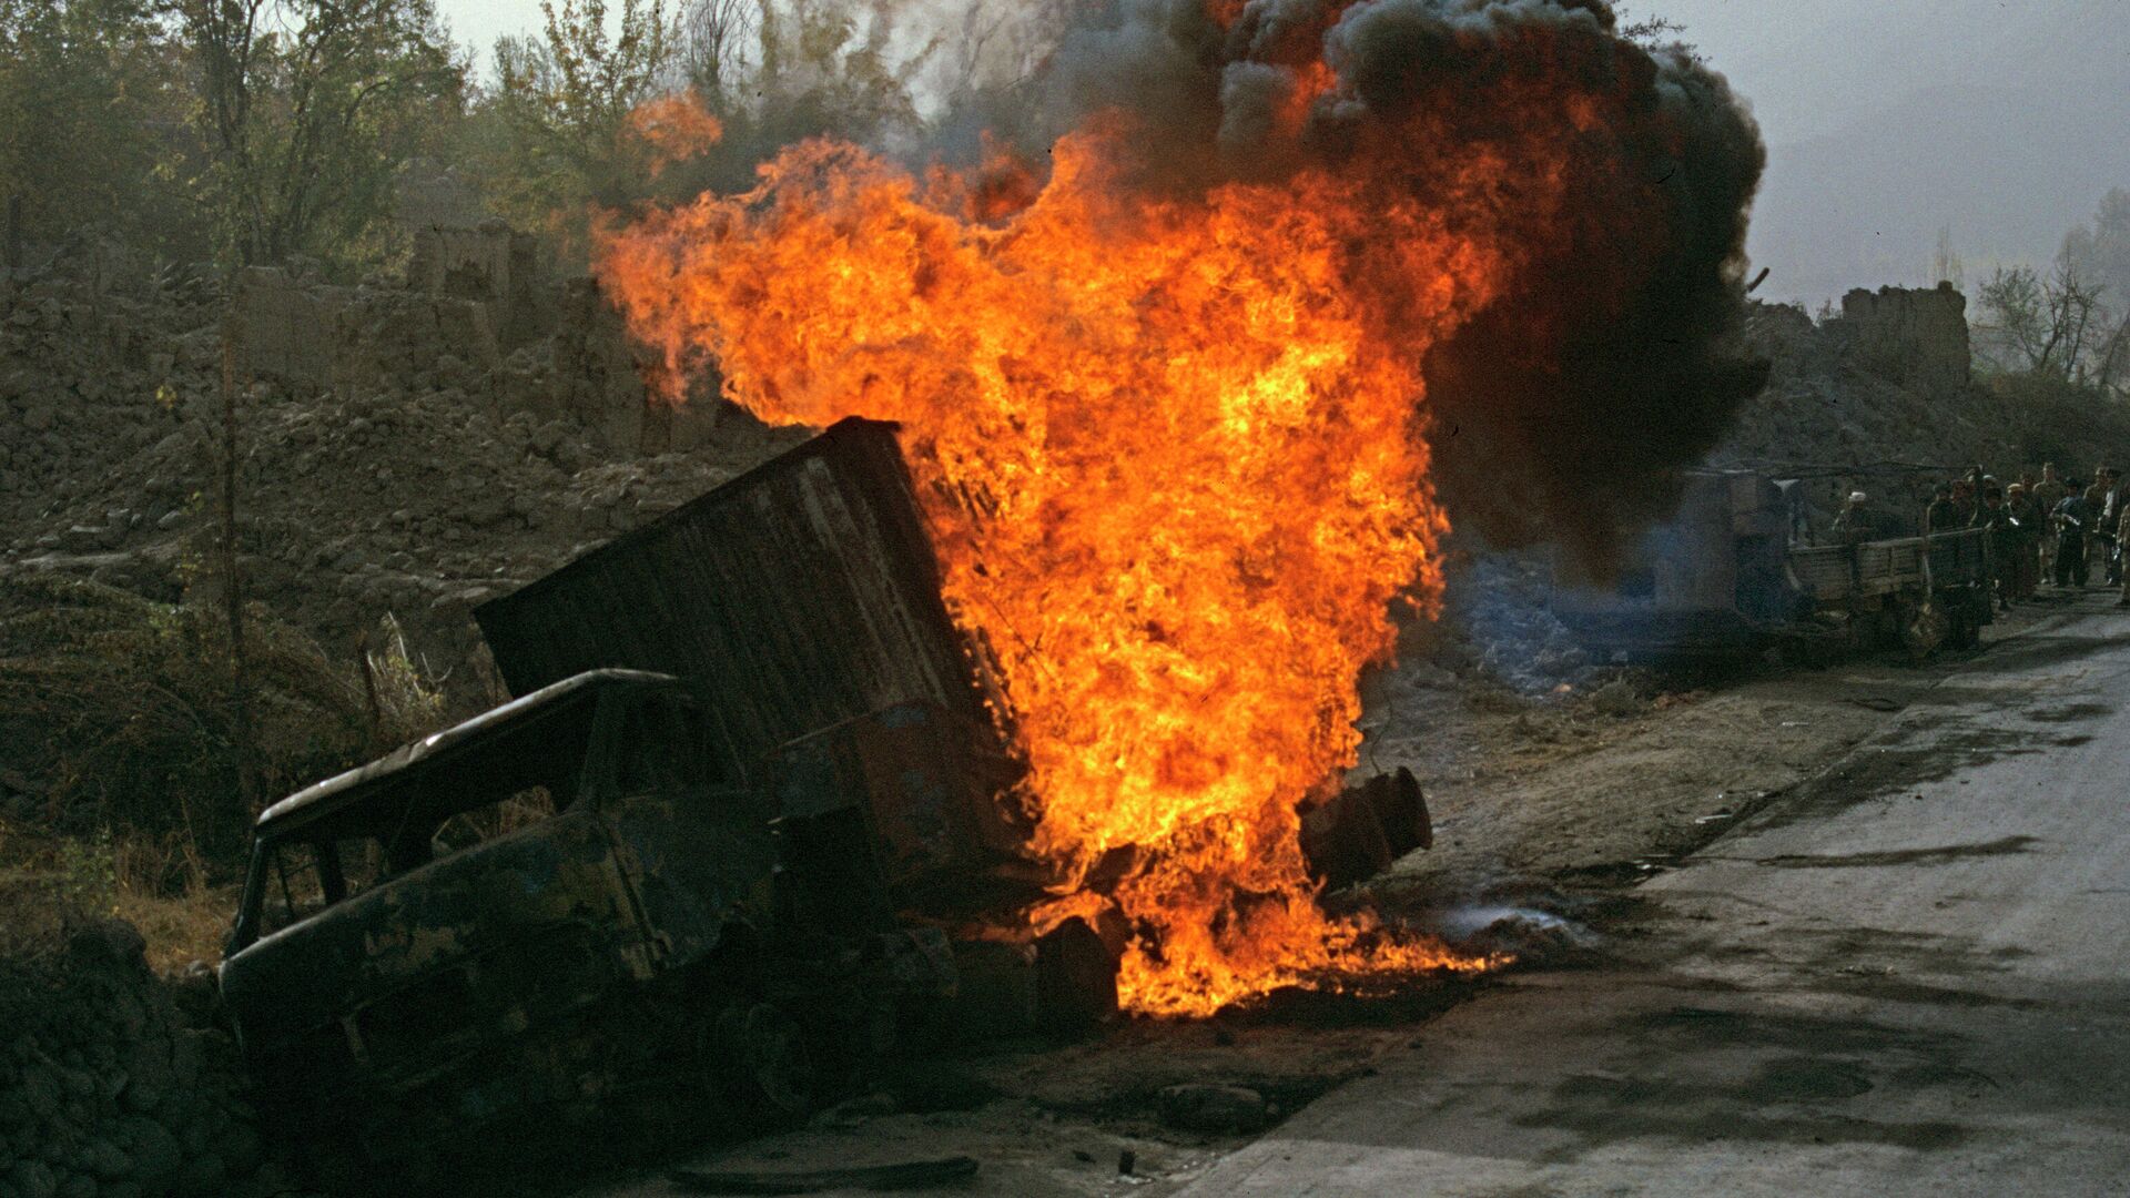
M 232 262 L 375 258 L 405 164 L 458 113 L 432 0 L 179 0 Z

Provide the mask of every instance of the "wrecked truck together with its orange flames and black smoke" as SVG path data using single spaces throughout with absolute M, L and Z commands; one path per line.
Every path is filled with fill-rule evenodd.
M 513 808 L 560 814 L 458 810 L 484 727 L 266 812 L 226 966 L 262 1068 L 407 1094 L 456 1066 L 373 1045 L 471 1059 L 594 991 L 733 976 L 688 968 L 726 949 L 773 961 L 737 976 L 920 1000 L 941 936 L 1067 936 L 1103 946 L 1120 1008 L 1176 1017 L 1495 964 L 1318 902 L 1425 842 L 1410 778 L 1342 791 L 1359 680 L 1395 657 L 1393 605 L 1440 610 L 1451 512 L 1617 561 L 1766 382 L 1738 339 L 1757 130 L 1600 0 L 1074 13 L 1056 87 L 1012 90 L 1059 98 L 1018 143 L 912 171 L 809 139 L 748 192 L 601 228 L 660 401 L 833 428 L 479 614 L 524 703 L 486 727 L 535 729 L 494 778 L 581 759 Z M 635 674 L 571 689 L 599 669 Z M 748 851 L 684 863 L 694 808 L 626 782 L 645 712 L 733 795 L 688 844 Z M 581 840 L 535 853 L 560 825 Z M 341 831 L 375 889 L 317 848 Z M 439 838 L 458 851 L 426 861 Z M 313 844 L 315 891 L 283 842 Z M 581 972 L 518 983 L 498 932 L 366 923 L 484 853 L 439 919 L 577 895 L 520 925 L 588 942 Z M 816 985 L 820 961 L 846 972 Z M 524 1008 L 532 981 L 577 998 Z M 677 1006 L 697 1042 L 741 1072 L 792 1055 L 803 1019 L 703 985 Z

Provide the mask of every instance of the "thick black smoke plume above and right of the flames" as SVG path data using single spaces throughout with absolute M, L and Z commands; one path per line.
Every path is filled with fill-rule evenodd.
M 1338 85 L 1282 134 L 1318 62 Z M 1440 497 L 1493 544 L 1606 571 L 1766 379 L 1736 337 L 1759 130 L 1721 75 L 1598 0 L 1112 2 L 1061 43 L 1033 132 L 1097 111 L 1140 117 L 1148 185 L 1387 151 L 1421 200 L 1457 156 L 1568 173 L 1566 209 L 1489 198 L 1521 269 L 1425 360 Z

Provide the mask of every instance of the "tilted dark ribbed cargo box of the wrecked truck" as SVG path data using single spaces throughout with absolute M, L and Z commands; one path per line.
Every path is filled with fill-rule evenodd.
M 797 450 L 484 603 L 511 693 L 596 667 L 707 684 L 748 761 L 931 701 L 995 729 L 995 674 L 952 622 L 895 426 Z

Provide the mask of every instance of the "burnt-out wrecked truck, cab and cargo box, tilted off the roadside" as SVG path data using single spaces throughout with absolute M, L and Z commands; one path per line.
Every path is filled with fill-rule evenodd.
M 417 1149 L 675 1074 L 803 1111 L 954 993 L 950 925 L 1054 880 L 892 426 L 837 424 L 477 620 L 518 699 L 258 821 L 222 993 L 305 1136 Z M 1012 961 L 1033 1017 L 1114 1010 L 1082 923 Z

